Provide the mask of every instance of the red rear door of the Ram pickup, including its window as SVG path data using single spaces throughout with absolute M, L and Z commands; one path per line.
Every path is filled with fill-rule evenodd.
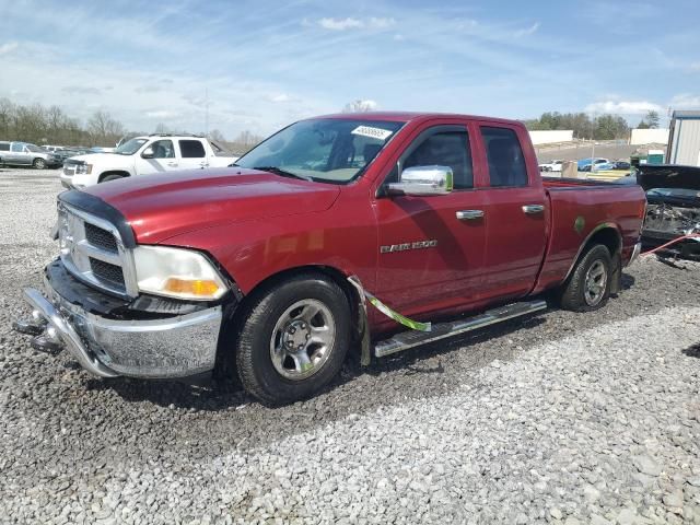
M 486 160 L 485 294 L 522 296 L 537 278 L 547 244 L 548 202 L 527 132 L 502 122 L 475 122 Z

